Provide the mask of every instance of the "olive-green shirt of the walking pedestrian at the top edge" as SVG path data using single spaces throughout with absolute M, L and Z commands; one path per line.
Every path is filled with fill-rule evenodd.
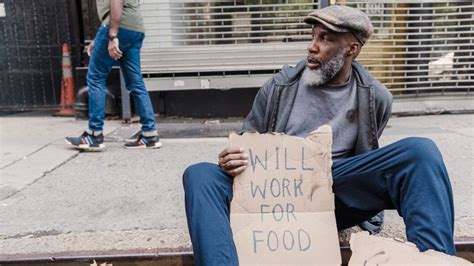
M 110 21 L 110 0 L 96 0 L 96 3 L 100 21 L 102 24 L 108 26 Z M 139 0 L 123 0 L 120 28 L 143 33 L 145 32 L 143 18 L 140 13 Z

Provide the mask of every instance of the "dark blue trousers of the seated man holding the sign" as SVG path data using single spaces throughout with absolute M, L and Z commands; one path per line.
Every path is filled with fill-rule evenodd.
M 433 141 L 406 138 L 333 163 L 338 229 L 396 209 L 421 251 L 454 255 L 454 208 L 443 158 Z M 199 163 L 183 175 L 186 217 L 196 265 L 238 265 L 229 224 L 232 177 Z

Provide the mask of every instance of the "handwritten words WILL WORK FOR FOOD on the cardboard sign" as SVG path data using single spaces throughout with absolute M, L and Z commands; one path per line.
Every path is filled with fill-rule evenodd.
M 283 150 L 283 151 L 281 151 Z M 293 160 L 288 160 L 288 148 L 275 147 L 275 160 L 269 162 L 268 150 L 265 149 L 263 154 L 258 154 L 253 149 L 248 149 L 250 157 L 250 165 L 252 172 L 255 173 L 257 168 L 261 172 L 267 172 L 269 167 L 275 170 L 282 169 L 284 171 L 313 171 L 314 168 L 305 166 L 305 148 L 301 147 L 301 158 L 297 161 L 301 163 L 294 163 Z M 282 154 L 280 154 L 282 153 Z M 282 158 L 283 157 L 283 158 Z M 259 172 L 259 171 L 257 171 Z M 287 173 L 289 174 L 289 173 Z M 291 176 L 291 174 L 289 174 Z M 263 183 L 262 183 L 263 179 Z M 250 181 L 250 190 L 252 197 L 267 199 L 267 197 L 288 198 L 288 197 L 303 197 L 303 180 L 296 178 L 277 178 L 259 176 L 252 178 Z M 267 215 L 271 214 L 271 215 Z M 270 222 L 291 222 L 297 221 L 295 214 L 295 205 L 286 202 L 284 204 L 260 204 L 261 222 L 268 222 L 265 217 L 271 218 Z M 275 252 L 278 249 L 307 251 L 311 247 L 311 236 L 302 228 L 283 230 L 275 232 L 272 230 L 252 230 L 253 251 L 258 253 L 259 248 L 266 248 L 269 251 Z

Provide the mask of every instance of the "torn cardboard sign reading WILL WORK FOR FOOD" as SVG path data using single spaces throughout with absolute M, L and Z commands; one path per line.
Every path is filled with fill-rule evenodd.
M 241 265 L 340 265 L 331 127 L 306 139 L 229 136 L 249 156 L 234 178 L 230 222 Z

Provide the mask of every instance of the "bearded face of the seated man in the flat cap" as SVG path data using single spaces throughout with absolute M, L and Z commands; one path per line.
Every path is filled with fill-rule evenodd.
M 308 65 L 302 76 L 306 84 L 322 85 L 341 71 L 346 58 L 343 40 L 341 34 L 321 25 L 313 27 L 313 40 L 308 46 Z

